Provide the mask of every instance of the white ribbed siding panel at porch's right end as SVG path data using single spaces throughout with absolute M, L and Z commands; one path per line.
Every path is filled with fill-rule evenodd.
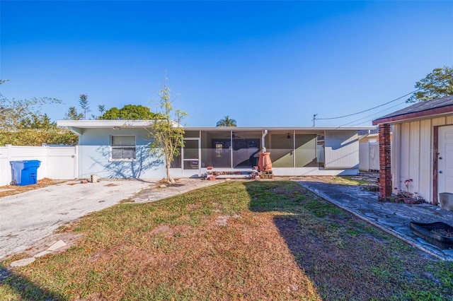
M 359 139 L 357 131 L 325 131 L 326 170 L 359 168 Z

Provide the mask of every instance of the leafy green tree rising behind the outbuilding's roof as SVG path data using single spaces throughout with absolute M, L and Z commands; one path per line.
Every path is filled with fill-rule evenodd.
M 432 70 L 425 78 L 415 83 L 417 92 L 406 102 L 419 102 L 453 95 L 453 66 Z

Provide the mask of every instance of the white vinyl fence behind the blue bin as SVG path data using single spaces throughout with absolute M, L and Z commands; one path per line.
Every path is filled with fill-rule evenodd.
M 11 182 L 11 161 L 40 160 L 38 179 L 76 179 L 79 175 L 79 146 L 0 147 L 0 186 Z

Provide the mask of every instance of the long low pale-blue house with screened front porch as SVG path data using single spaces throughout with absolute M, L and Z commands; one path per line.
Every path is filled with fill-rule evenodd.
M 149 152 L 149 120 L 60 120 L 79 135 L 79 177 L 163 178 L 165 165 Z M 374 127 L 185 127 L 171 177 L 201 177 L 207 167 L 253 170 L 270 153 L 273 175 L 357 175 L 359 130 Z

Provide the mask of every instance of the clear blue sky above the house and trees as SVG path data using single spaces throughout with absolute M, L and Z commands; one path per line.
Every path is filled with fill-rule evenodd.
M 98 105 L 151 106 L 166 71 L 188 126 L 215 126 L 226 115 L 238 126 L 311 126 L 313 114 L 367 110 L 411 92 L 432 69 L 453 65 L 453 1 L 0 6 L 0 78 L 9 80 L 1 92 L 62 100 L 42 110 L 52 121 L 79 107 L 82 93 L 93 114 Z M 405 107 L 405 99 L 316 126 L 369 126 Z

